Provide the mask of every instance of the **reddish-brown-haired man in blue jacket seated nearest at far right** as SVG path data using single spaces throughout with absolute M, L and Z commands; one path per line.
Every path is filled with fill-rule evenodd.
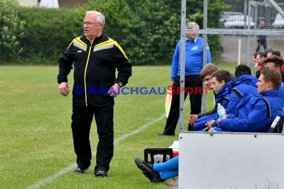
M 276 116 L 283 116 L 279 89 L 282 83 L 280 72 L 264 69 L 257 82 L 259 96 L 250 95 L 237 106 L 230 118 L 217 121 L 217 127 L 209 131 L 267 132 Z

